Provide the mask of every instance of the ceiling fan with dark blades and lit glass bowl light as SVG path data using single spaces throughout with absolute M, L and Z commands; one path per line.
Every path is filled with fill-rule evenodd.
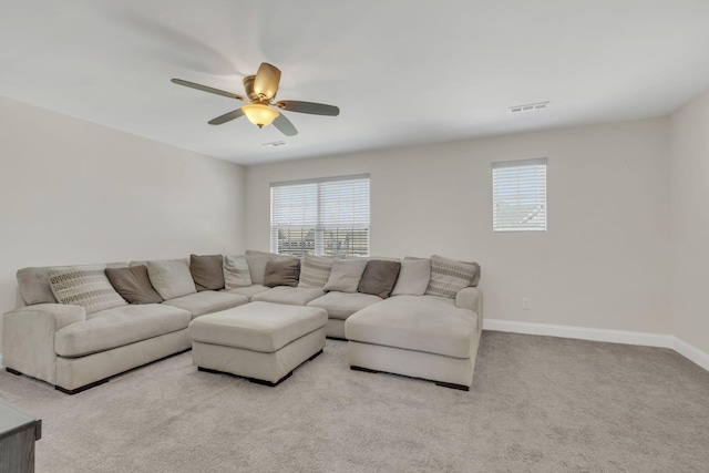
M 280 70 L 267 62 L 261 63 L 256 75 L 244 78 L 246 97 L 219 89 L 183 81 L 182 79 L 173 79 L 172 82 L 186 88 L 197 89 L 198 91 L 247 102 L 247 104 L 240 109 L 210 120 L 208 122 L 210 125 L 220 125 L 246 115 L 246 117 L 259 128 L 273 123 L 274 126 L 286 136 L 294 136 L 298 134 L 298 131 L 278 109 L 287 110 L 288 112 L 309 113 L 311 115 L 337 116 L 340 114 L 340 109 L 323 103 L 301 102 L 297 100 L 279 100 L 278 102 L 274 102 L 276 92 L 278 91 L 278 83 L 280 82 Z

